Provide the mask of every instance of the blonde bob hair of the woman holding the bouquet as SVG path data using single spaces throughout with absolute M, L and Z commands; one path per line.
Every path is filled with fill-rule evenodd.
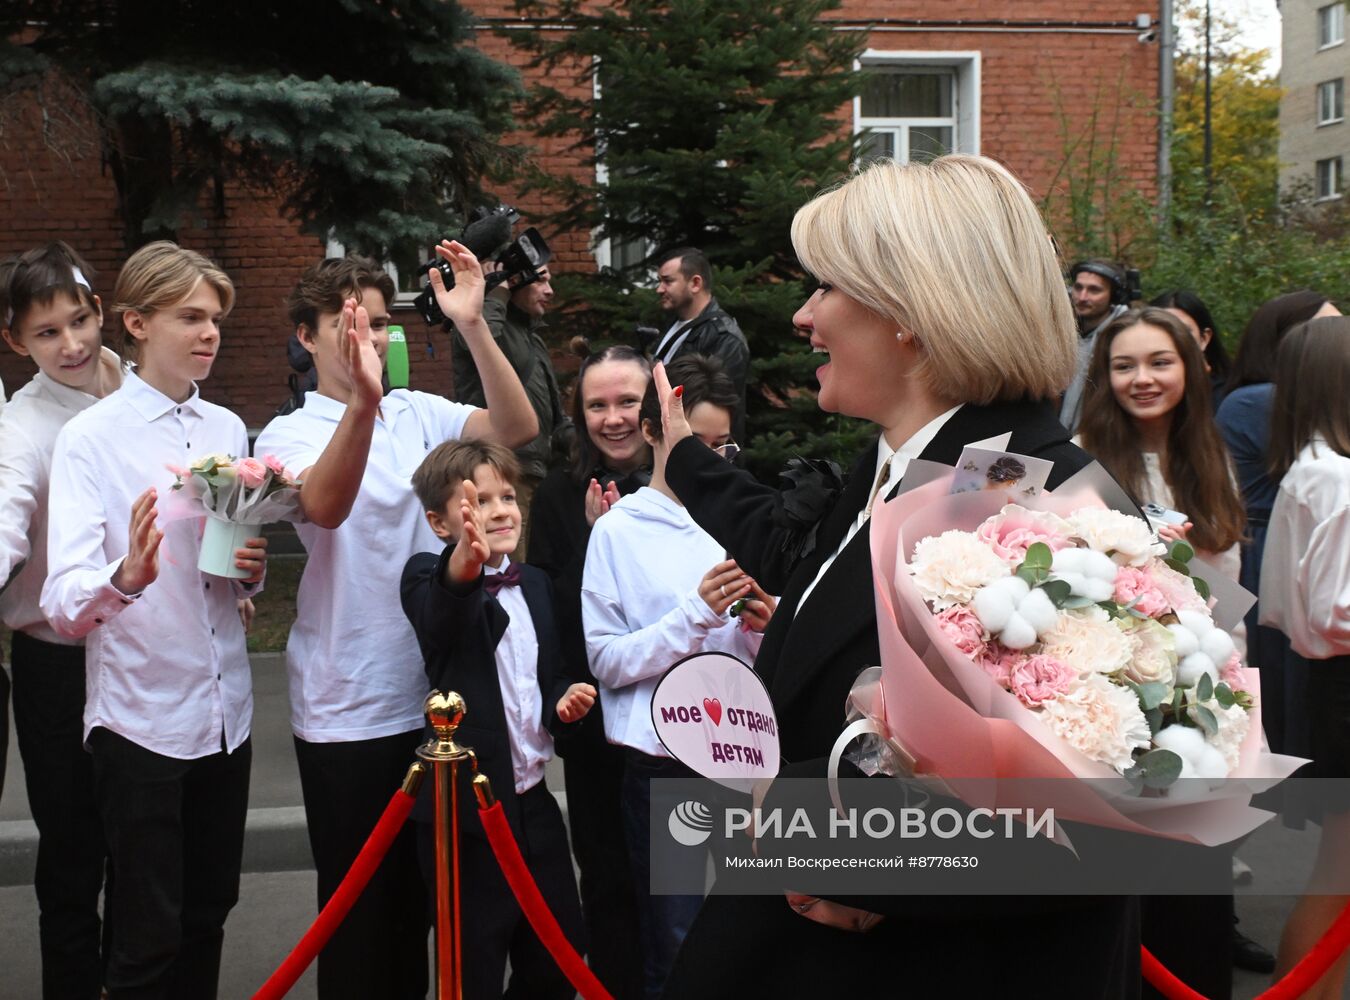
M 811 274 L 918 337 L 945 399 L 1050 399 L 1077 363 L 1060 262 L 1022 184 L 984 157 L 878 161 L 803 205 Z

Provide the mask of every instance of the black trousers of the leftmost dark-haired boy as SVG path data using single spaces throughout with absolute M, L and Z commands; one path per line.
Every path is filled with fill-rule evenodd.
M 103 987 L 99 895 L 108 846 L 84 748 L 84 646 L 14 634 L 14 727 L 38 826 L 38 938 L 45 1000 L 92 997 Z

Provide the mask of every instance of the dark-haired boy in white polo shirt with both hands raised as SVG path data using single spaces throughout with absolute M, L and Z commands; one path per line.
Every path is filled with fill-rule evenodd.
M 310 267 L 288 308 L 312 354 L 317 389 L 273 420 L 259 455 L 305 470 L 296 525 L 309 553 L 286 644 L 292 731 L 319 906 L 338 888 L 421 742 L 427 679 L 398 578 L 414 552 L 439 545 L 410 478 L 446 440 L 489 437 L 508 447 L 536 430 L 535 412 L 482 318 L 483 275 L 474 255 L 446 242 L 455 286 L 432 271 L 441 310 L 470 344 L 489 409 L 429 393 L 383 395 L 393 282 L 364 258 Z M 367 323 L 369 321 L 369 323 Z M 369 343 L 351 350 L 352 332 Z M 416 838 L 404 830 L 370 885 L 319 955 L 323 1000 L 423 997 L 428 908 Z

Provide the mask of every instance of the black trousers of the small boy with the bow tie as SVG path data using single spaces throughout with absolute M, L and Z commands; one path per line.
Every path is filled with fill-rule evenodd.
M 543 781 L 516 802 L 521 827 L 517 843 L 525 865 L 563 934 L 585 954 L 586 930 L 562 810 Z M 431 823 L 417 823 L 417 850 L 427 884 L 435 887 L 436 835 Z M 464 1000 L 571 1000 L 575 991 L 516 904 L 482 830 L 460 830 L 459 872 Z M 504 991 L 508 958 L 510 984 Z

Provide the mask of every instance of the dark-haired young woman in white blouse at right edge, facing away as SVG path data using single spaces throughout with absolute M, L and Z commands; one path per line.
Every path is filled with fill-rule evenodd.
M 1297 393 L 1295 393 L 1297 387 Z M 1280 345 L 1270 474 L 1280 494 L 1261 564 L 1261 623 L 1308 660 L 1314 773 L 1350 779 L 1350 318 L 1310 320 Z M 1282 479 L 1281 479 L 1282 476 Z M 1350 796 L 1323 792 L 1312 883 L 1350 879 Z M 1324 889 L 1323 889 L 1324 891 Z M 1276 976 L 1322 937 L 1350 895 L 1305 895 L 1280 941 Z M 1304 996 L 1339 997 L 1350 955 Z

